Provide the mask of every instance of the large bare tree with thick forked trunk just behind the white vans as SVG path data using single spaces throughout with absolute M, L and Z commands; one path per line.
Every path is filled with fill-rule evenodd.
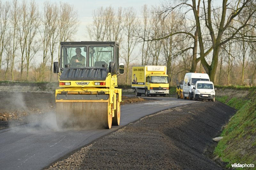
M 198 1 L 198 5 L 199 4 L 200 4 L 200 0 Z M 206 72 L 209 74 L 210 79 L 214 82 L 221 45 L 233 39 L 236 35 L 238 35 L 239 31 L 242 28 L 248 25 L 247 23 L 249 19 L 255 14 L 255 11 L 256 11 L 255 5 L 251 0 L 243 0 L 243 1 L 237 1 L 236 4 L 231 6 L 231 4 L 227 4 L 227 0 L 223 0 L 222 14 L 219 18 L 214 13 L 211 0 L 208 0 L 207 3 L 204 3 L 203 1 L 204 21 L 205 21 L 204 24 L 207 26 L 207 29 L 210 33 L 212 48 L 213 48 L 211 64 L 208 64 L 205 59 L 205 54 L 204 54 L 205 46 L 203 43 L 202 31 L 201 31 L 202 21 L 199 19 L 200 16 L 196 11 L 196 0 L 192 0 L 192 5 L 190 6 L 193 9 L 195 20 L 196 20 L 201 62 L 203 64 L 204 70 L 206 70 Z M 231 10 L 229 16 L 227 16 L 228 9 Z M 212 18 L 212 15 L 214 16 L 214 18 Z M 220 21 L 215 17 L 220 19 Z M 240 17 L 243 17 L 243 18 L 240 18 Z M 241 22 L 240 26 L 236 28 L 233 27 L 232 29 L 234 29 L 234 32 L 230 36 L 227 36 L 226 39 L 223 39 L 222 38 L 223 34 L 225 34 L 225 31 L 230 28 L 230 23 L 236 18 L 240 19 L 240 22 Z M 212 19 L 216 19 L 215 20 L 216 22 L 213 22 L 214 20 Z M 217 29 L 214 29 L 214 27 Z

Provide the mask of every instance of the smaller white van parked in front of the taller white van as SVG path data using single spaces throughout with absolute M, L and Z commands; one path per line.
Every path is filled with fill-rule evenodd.
M 197 81 L 193 89 L 195 90 L 194 100 L 208 99 L 215 101 L 214 85 L 211 81 Z

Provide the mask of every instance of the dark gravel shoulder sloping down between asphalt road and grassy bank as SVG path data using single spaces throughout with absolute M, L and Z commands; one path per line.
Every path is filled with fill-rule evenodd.
M 235 109 L 220 102 L 170 108 L 141 118 L 45 169 L 222 169 L 216 137 Z

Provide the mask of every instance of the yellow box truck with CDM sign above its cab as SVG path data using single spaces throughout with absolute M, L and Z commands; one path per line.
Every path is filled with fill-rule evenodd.
M 132 89 L 135 96 L 166 96 L 169 94 L 169 78 L 166 66 L 132 66 Z

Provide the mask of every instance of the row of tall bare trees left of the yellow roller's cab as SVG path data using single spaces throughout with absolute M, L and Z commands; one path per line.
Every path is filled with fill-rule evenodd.
M 34 0 L 21 3 L 0 0 L 0 70 L 4 70 L 1 79 L 7 80 L 10 72 L 14 80 L 19 70 L 20 80 L 31 80 L 30 64 L 34 59 L 39 64 L 37 68 L 34 66 L 34 80 L 45 81 L 50 65 L 52 81 L 52 65 L 58 59 L 60 41 L 70 40 L 76 33 L 76 22 L 77 13 L 68 3 L 44 2 L 39 9 Z

